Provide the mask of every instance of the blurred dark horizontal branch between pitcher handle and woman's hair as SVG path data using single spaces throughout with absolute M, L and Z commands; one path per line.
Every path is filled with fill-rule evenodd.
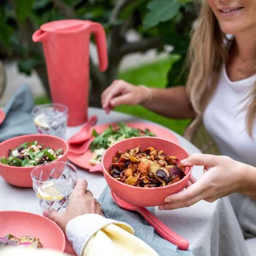
M 120 55 L 124 56 L 129 53 L 145 52 L 152 48 L 160 46 L 160 39 L 157 37 L 141 39 L 137 42 L 126 43 L 119 49 Z

